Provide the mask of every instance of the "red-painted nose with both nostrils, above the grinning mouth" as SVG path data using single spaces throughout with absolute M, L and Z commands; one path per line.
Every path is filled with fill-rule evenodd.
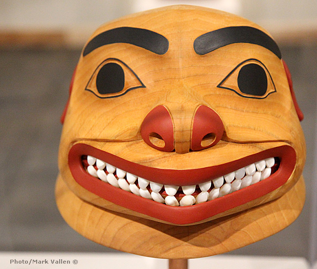
M 152 109 L 141 125 L 141 136 L 146 144 L 161 151 L 173 151 L 175 126 L 166 107 L 159 105 Z M 218 114 L 211 108 L 201 105 L 196 110 L 191 130 L 188 130 L 191 150 L 202 150 L 215 146 L 224 133 L 224 124 Z M 188 135 L 189 136 L 189 135 Z M 188 147 L 189 149 L 189 147 Z M 176 150 L 177 153 L 186 153 Z M 187 150 L 188 152 L 188 150 Z

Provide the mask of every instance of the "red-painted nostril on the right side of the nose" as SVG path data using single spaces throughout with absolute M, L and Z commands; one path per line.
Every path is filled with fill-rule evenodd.
M 210 145 L 202 146 L 203 138 L 211 134 L 215 136 Z M 215 146 L 224 134 L 224 124 L 218 114 L 211 108 L 201 105 L 196 110 L 191 135 L 191 149 L 202 150 L 204 148 Z

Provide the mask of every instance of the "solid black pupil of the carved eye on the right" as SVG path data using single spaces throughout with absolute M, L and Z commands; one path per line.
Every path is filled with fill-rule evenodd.
M 238 86 L 242 93 L 263 96 L 268 89 L 265 70 L 257 64 L 247 64 L 240 69 Z

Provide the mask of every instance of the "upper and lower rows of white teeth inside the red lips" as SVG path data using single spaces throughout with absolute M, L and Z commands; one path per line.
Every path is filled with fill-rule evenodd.
M 138 177 L 92 156 L 87 156 L 87 162 L 89 164 L 87 171 L 92 176 L 98 177 L 101 180 L 110 183 L 114 187 L 132 192 L 137 196 L 142 196 L 151 200 L 153 199 L 157 202 L 166 203 L 167 205 L 172 206 L 198 204 L 248 187 L 260 180 L 268 178 L 271 175 L 271 168 L 275 163 L 274 158 L 268 158 L 228 173 L 224 176 L 201 183 L 199 184 L 201 193 L 196 197 L 192 196 L 196 190 L 196 185 L 181 186 L 182 192 L 185 196 L 183 196 L 179 202 L 176 199 L 175 194 L 179 190 L 180 186 L 164 185 L 165 192 L 168 195 L 164 199 L 159 194 L 163 188 L 163 184 Z M 96 165 L 97 170 L 94 168 L 94 165 Z M 108 174 L 104 171 L 105 168 L 108 171 Z M 114 172 L 116 173 L 118 179 L 114 176 Z M 136 180 L 138 180 L 138 186 L 135 184 Z M 214 185 L 214 188 L 212 189 L 211 182 Z M 151 193 L 147 189 L 149 185 L 152 191 Z

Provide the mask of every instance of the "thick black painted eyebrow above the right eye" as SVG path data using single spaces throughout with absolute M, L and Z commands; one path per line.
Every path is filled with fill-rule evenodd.
M 197 54 L 204 55 L 233 43 L 256 44 L 282 58 L 281 51 L 269 35 L 249 26 L 229 26 L 205 33 L 195 39 L 194 49 Z

